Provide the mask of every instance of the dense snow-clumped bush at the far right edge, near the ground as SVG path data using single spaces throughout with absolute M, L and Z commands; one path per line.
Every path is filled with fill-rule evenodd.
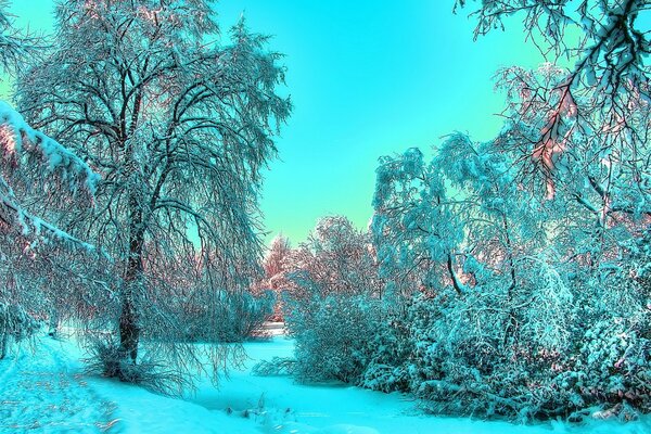
M 604 405 L 602 417 L 651 411 L 649 234 L 623 243 L 622 256 L 603 264 L 597 281 L 574 279 L 574 347 L 553 384 L 577 408 Z

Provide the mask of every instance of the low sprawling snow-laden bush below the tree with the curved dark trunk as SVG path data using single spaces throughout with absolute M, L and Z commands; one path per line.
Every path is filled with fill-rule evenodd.
M 448 290 L 437 303 L 420 297 L 409 322 L 416 347 L 410 388 L 434 412 L 527 420 L 550 417 L 554 363 L 563 354 L 526 335 L 526 323 L 509 332 L 511 316 L 495 293 L 458 301 Z M 542 336 L 540 336 L 542 337 Z

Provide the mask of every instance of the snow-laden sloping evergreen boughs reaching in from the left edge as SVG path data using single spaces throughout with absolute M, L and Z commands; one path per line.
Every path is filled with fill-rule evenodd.
M 59 227 L 73 207 L 91 206 L 99 177 L 4 102 L 0 130 L 0 303 L 11 306 L 7 312 L 28 308 L 31 316 L 51 316 L 62 304 L 72 307 L 75 282 L 91 286 L 91 275 L 99 276 L 92 266 L 75 269 L 105 261 Z

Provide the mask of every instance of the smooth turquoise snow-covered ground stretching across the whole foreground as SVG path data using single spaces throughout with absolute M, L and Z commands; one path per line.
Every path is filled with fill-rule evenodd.
M 341 384 L 306 386 L 289 376 L 256 376 L 263 359 L 290 356 L 293 342 L 277 336 L 245 344 L 246 369 L 232 371 L 219 390 L 209 381 L 174 399 L 82 372 L 74 342 L 43 337 L 0 361 L 0 432 L 4 433 L 651 433 L 651 419 L 628 424 L 595 421 L 513 425 L 423 416 L 400 394 Z

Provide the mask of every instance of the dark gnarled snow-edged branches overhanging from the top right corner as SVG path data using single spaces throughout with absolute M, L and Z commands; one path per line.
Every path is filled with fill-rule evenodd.
M 647 0 L 457 0 L 456 8 L 472 8 L 476 17 L 475 38 L 494 29 L 506 29 L 510 17 L 522 20 L 525 36 L 548 61 L 563 56 L 576 60 L 561 89 L 572 92 L 582 86 L 599 86 L 600 108 L 623 115 L 636 91 L 648 98 L 651 52 L 644 27 Z M 631 92 L 631 90 L 634 92 Z M 562 108 L 563 101 L 558 101 Z M 624 112 L 621 112 L 624 111 Z

